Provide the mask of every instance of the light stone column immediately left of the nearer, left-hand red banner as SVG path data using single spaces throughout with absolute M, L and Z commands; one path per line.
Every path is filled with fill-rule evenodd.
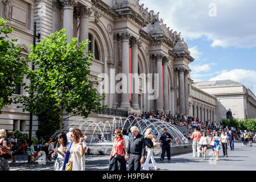
M 125 74 L 126 79 L 122 84 L 122 101 L 120 107 L 122 109 L 128 109 L 130 107 L 129 101 L 129 32 L 123 32 L 121 34 L 122 39 L 122 73 Z M 123 78 L 122 78 L 123 79 Z

